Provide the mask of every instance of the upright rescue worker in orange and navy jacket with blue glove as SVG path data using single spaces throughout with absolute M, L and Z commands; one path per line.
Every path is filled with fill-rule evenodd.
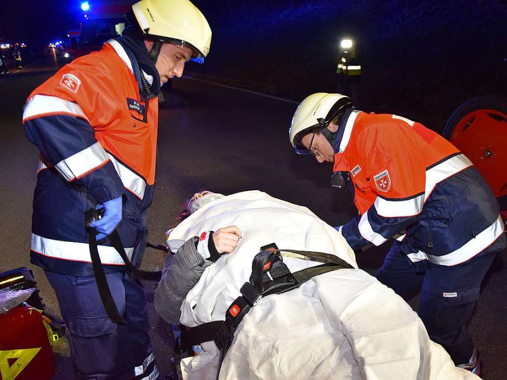
M 108 237 L 118 231 L 139 267 L 153 199 L 158 95 L 185 63 L 202 63 L 211 29 L 188 0 L 142 0 L 130 26 L 102 50 L 65 65 L 27 99 L 23 124 L 41 160 L 33 199 L 31 262 L 45 270 L 70 331 L 79 379 L 156 379 L 146 299 Z M 93 277 L 85 212 L 124 323 L 106 315 Z

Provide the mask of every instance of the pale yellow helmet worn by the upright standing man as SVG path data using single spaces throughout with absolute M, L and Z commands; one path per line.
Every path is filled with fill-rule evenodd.
M 189 0 L 141 0 L 126 15 L 143 36 L 161 43 L 192 49 L 192 60 L 202 63 L 209 53 L 211 28 L 204 15 Z M 155 54 L 158 56 L 158 51 Z

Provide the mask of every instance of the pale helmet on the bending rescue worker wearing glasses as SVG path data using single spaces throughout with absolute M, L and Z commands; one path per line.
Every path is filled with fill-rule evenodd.
M 301 144 L 301 139 L 308 133 L 327 128 L 338 113 L 352 106 L 352 100 L 345 95 L 317 92 L 299 103 L 288 136 L 291 144 L 299 155 L 307 155 L 310 151 Z

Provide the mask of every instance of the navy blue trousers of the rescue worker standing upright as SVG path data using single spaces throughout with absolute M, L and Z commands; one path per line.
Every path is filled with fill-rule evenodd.
M 94 277 L 46 272 L 70 332 L 70 354 L 80 380 L 154 380 L 158 377 L 148 334 L 142 285 L 126 273 L 107 274 L 125 325 L 106 315 Z

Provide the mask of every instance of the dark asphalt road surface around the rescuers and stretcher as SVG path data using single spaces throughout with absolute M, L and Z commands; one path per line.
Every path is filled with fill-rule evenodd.
M 40 58 L 11 71 L 0 80 L 0 272 L 18 267 L 33 270 L 47 309 L 59 314 L 53 290 L 43 271 L 29 263 L 32 194 L 38 149 L 30 144 L 21 124 L 22 106 L 30 92 L 64 62 L 54 56 Z M 311 156 L 296 156 L 287 129 L 296 104 L 182 78 L 164 91 L 160 106 L 157 188 L 148 213 L 150 241 L 164 243 L 164 233 L 184 200 L 200 189 L 231 194 L 259 189 L 274 197 L 309 207 L 332 225 L 356 214 L 348 193 L 330 188 L 332 167 L 317 165 Z M 358 255 L 361 268 L 374 273 L 388 248 Z M 148 250 L 142 268 L 162 265 L 159 251 Z M 505 252 L 497 255 L 483 284 L 469 329 L 481 349 L 484 378 L 507 378 L 507 268 Z M 153 308 L 154 284 L 144 283 L 151 320 L 151 336 L 158 367 L 169 371 L 171 344 L 168 326 Z M 417 297 L 411 300 L 417 306 Z M 55 343 L 54 379 L 74 379 L 68 341 Z M 393 374 L 393 379 L 395 375 Z

